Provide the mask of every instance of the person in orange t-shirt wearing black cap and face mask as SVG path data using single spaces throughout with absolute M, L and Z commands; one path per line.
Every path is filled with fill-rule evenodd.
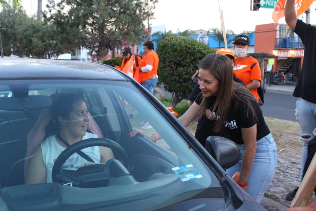
M 249 37 L 238 35 L 233 44 L 234 54 L 237 56 L 233 68 L 234 74 L 246 84 L 250 92 L 259 100 L 257 88 L 260 87 L 261 83 L 261 70 L 258 61 L 247 55 L 250 45 Z

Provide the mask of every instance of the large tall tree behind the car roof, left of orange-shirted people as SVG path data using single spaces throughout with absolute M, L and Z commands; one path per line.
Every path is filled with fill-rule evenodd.
M 144 35 L 143 22 L 153 16 L 143 0 L 61 0 L 48 1 L 47 21 L 63 33 L 73 31 L 78 47 L 102 62 L 109 50 L 126 43 L 139 43 Z

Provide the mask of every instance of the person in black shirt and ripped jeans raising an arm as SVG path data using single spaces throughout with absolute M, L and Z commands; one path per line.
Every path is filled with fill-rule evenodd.
M 300 37 L 305 48 L 302 70 L 293 92 L 293 96 L 297 97 L 295 116 L 300 125 L 300 139 L 303 141 L 300 173 L 302 180 L 308 143 L 313 139 L 313 130 L 316 127 L 316 27 L 297 19 L 295 2 L 294 0 L 286 1 L 284 15 L 285 22 Z M 297 189 L 288 193 L 285 198 L 292 201 Z

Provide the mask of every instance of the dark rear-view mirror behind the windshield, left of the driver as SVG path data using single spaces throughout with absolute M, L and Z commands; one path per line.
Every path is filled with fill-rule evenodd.
M 27 96 L 25 98 L 0 98 L 0 110 L 26 111 L 36 108 L 45 108 L 52 105 L 49 96 Z

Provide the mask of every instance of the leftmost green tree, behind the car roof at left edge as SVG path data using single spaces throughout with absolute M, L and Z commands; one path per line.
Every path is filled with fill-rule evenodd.
M 55 55 L 70 53 L 76 48 L 70 35 L 60 33 L 50 23 L 28 17 L 21 8 L 3 6 L 0 30 L 4 55 L 50 59 Z

